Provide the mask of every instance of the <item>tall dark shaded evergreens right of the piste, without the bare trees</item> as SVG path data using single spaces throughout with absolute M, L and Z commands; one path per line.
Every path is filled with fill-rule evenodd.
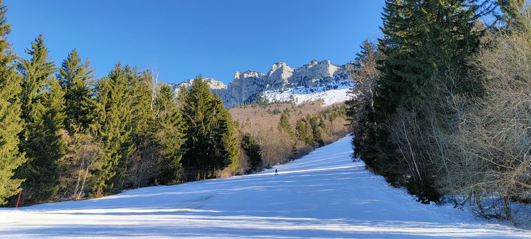
M 363 99 L 348 103 L 349 116 L 358 124 L 355 156 L 423 202 L 439 197 L 434 177 L 441 171 L 435 158 L 444 155 L 434 157 L 433 152 L 445 148 L 434 132 L 455 127 L 454 108 L 446 97 L 483 92 L 481 82 L 466 77 L 467 57 L 476 52 L 483 34 L 477 28 L 478 8 L 466 0 L 387 0 L 377 87 L 369 85 Z M 360 66 L 371 52 L 362 45 Z

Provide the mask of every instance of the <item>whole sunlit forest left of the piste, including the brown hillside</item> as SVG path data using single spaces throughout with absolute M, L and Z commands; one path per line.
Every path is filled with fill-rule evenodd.
M 260 102 L 243 112 L 267 108 L 261 119 L 268 120 L 250 122 L 233 120 L 201 75 L 178 94 L 158 73 L 120 62 L 97 79 L 76 49 L 57 65 L 42 34 L 27 55 L 15 55 L 6 10 L 1 6 L 0 205 L 14 207 L 21 190 L 20 205 L 28 205 L 253 173 L 348 133 L 344 105 L 303 114 L 304 106 L 288 104 L 292 111 L 280 113 L 270 111 L 280 103 Z

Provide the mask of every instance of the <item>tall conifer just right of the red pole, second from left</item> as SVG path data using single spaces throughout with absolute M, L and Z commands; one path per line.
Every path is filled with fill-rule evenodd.
M 17 178 L 26 179 L 29 202 L 41 202 L 55 196 L 59 189 L 57 164 L 64 155 L 64 141 L 59 132 L 64 128 L 64 93 L 57 79 L 53 61 L 48 61 L 48 48 L 39 35 L 31 48 L 30 59 L 18 65 L 24 76 L 21 82 L 21 118 L 26 123 L 21 132 L 21 151 L 28 161 L 17 169 Z

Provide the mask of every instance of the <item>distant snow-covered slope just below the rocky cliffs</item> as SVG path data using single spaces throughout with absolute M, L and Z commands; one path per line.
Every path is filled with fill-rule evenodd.
M 311 102 L 318 99 L 323 99 L 323 106 L 330 106 L 334 103 L 344 102 L 351 97 L 348 95 L 347 85 L 333 85 L 326 87 L 299 87 L 299 88 L 287 88 L 284 90 L 266 90 L 262 93 L 262 97 L 268 99 L 270 102 L 279 101 L 287 102 L 292 101 L 295 104 L 301 104 L 304 102 Z

